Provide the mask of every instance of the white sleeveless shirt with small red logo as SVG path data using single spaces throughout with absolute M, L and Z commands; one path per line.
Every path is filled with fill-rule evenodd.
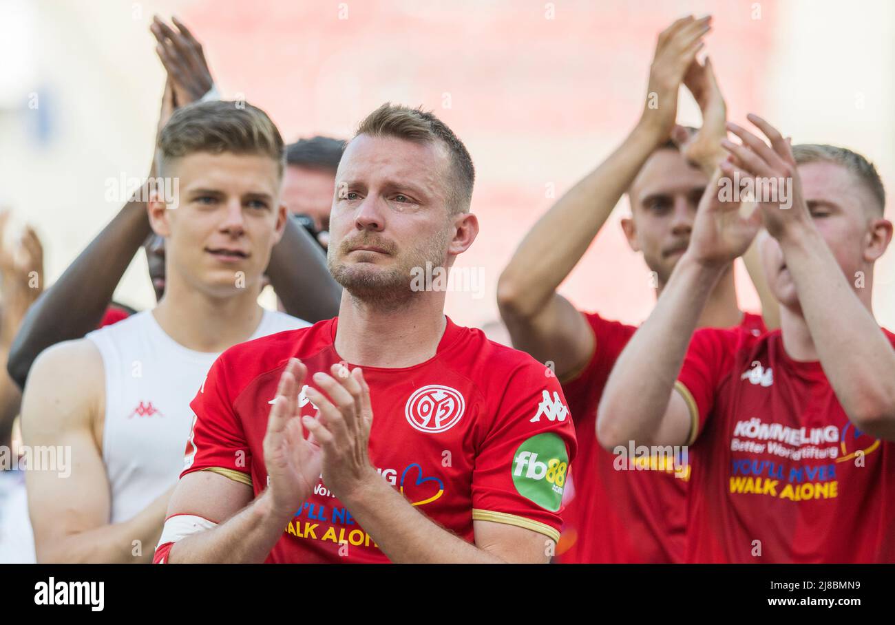
M 265 311 L 251 338 L 310 325 Z M 219 354 L 187 349 L 169 337 L 151 311 L 87 335 L 103 357 L 106 414 L 103 461 L 112 523 L 133 518 L 175 484 L 190 436 L 190 402 Z

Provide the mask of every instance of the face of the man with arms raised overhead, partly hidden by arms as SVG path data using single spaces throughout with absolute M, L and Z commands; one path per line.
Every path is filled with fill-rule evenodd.
M 622 219 L 622 228 L 631 249 L 644 253 L 660 286 L 690 243 L 696 207 L 708 182 L 678 150 L 662 148 L 646 160 L 628 189 L 632 217 Z

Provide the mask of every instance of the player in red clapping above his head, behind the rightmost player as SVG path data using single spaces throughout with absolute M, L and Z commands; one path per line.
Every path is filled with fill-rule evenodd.
M 651 458 L 634 469 L 624 462 L 625 470 L 619 470 L 618 456 L 601 449 L 594 436 L 603 386 L 636 329 L 579 312 L 557 289 L 626 191 L 632 217 L 622 225 L 628 242 L 644 253 L 659 293 L 668 281 L 686 250 L 699 198 L 725 156 L 720 145 L 726 134 L 724 99 L 711 63 L 695 60 L 708 30 L 708 19 L 687 17 L 661 33 L 649 96 L 634 131 L 541 218 L 500 277 L 500 312 L 514 346 L 555 365 L 575 419 L 578 453 L 563 513 L 560 562 L 684 558 L 686 463 L 678 462 L 676 469 L 674 458 Z M 703 127 L 689 136 L 675 126 L 682 82 L 703 111 Z M 679 148 L 669 135 L 678 135 Z M 760 280 L 756 287 L 760 295 L 766 293 Z M 763 308 L 773 311 L 769 299 L 763 297 Z M 718 281 L 699 325 L 764 330 L 760 316 L 737 307 L 732 270 Z

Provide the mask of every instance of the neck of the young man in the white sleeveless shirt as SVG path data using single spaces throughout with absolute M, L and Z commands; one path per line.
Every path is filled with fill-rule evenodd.
M 258 329 L 264 310 L 257 289 L 238 289 L 234 295 L 211 297 L 170 276 L 165 295 L 152 314 L 165 333 L 187 349 L 222 352 L 241 343 Z

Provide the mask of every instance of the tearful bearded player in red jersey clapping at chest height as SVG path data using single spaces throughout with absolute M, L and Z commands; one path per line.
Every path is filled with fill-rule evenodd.
M 330 218 L 339 316 L 218 358 L 155 561 L 550 559 L 575 455 L 558 381 L 414 278 L 473 243 L 473 176 L 430 113 L 362 122 Z

